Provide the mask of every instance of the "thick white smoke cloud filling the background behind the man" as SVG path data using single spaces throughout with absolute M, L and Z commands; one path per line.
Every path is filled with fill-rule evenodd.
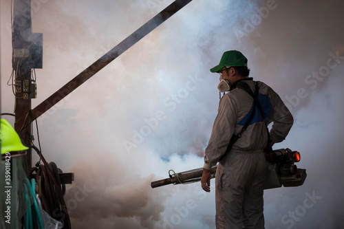
M 32 0 L 33 32 L 43 33 L 32 107 L 171 2 Z M 10 2 L 0 8 L 1 112 L 12 112 Z M 290 107 L 294 127 L 275 147 L 300 151 L 308 172 L 303 186 L 266 190 L 266 228 L 339 228 L 342 10 L 334 0 L 191 1 L 47 111 L 43 153 L 75 173 L 65 196 L 73 228 L 215 227 L 213 186 L 150 182 L 202 167 L 219 101 L 209 69 L 226 50 L 243 52 L 251 76 Z

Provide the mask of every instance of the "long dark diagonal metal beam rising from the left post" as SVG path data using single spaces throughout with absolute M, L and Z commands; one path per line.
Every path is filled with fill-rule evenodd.
M 58 89 L 54 94 L 52 94 L 49 98 L 41 102 L 37 107 L 32 109 L 30 113 L 25 114 L 19 118 L 16 122 L 18 127 L 24 127 L 30 124 L 32 121 L 39 118 L 45 111 L 52 108 L 56 105 L 57 102 L 61 101 L 65 96 L 70 94 L 74 89 L 85 83 L 86 80 L 94 76 L 100 69 L 103 69 L 106 65 L 108 65 L 111 61 L 114 61 L 120 54 L 127 51 L 131 46 L 135 45 L 140 39 L 144 36 L 149 34 L 149 32 L 153 31 L 159 25 L 161 25 L 164 21 L 169 19 L 173 14 L 178 12 L 192 0 L 176 0 L 171 5 L 167 6 L 164 10 L 158 13 L 155 17 L 151 20 L 147 21 L 144 25 L 142 25 L 138 30 L 133 32 L 129 35 L 126 39 L 116 45 L 112 50 L 107 52 L 104 56 L 100 57 L 96 62 L 92 65 L 87 67 L 83 72 L 78 74 L 78 76 L 74 77 L 70 80 L 66 85 Z

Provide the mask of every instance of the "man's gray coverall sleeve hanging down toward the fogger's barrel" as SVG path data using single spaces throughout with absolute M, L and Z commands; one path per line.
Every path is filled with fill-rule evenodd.
M 211 166 L 217 164 L 226 152 L 236 124 L 236 111 L 235 104 L 233 103 L 233 100 L 230 100 L 228 96 L 222 97 L 219 102 L 219 109 L 213 124 L 213 130 L 211 131 L 211 138 L 205 150 L 204 168 L 210 169 Z

